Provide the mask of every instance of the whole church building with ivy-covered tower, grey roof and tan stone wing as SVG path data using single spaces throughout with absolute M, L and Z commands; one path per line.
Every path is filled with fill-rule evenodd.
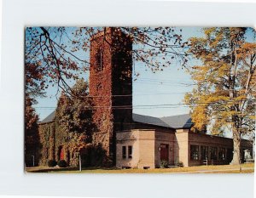
M 166 163 L 189 167 L 229 164 L 232 160 L 233 140 L 193 133 L 189 115 L 154 117 L 132 113 L 132 39 L 119 29 L 107 28 L 91 38 L 89 84 L 97 128 L 92 144 L 106 151 L 113 166 L 155 168 Z M 56 141 L 54 119 L 55 112 L 39 123 L 39 130 L 49 127 L 49 141 Z M 41 144 L 51 153 L 45 159 L 68 159 L 68 150 Z M 252 155 L 253 144 L 242 139 L 244 158 L 243 150 Z

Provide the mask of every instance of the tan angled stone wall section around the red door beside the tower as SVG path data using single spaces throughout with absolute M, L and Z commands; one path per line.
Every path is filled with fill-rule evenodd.
M 116 133 L 116 167 L 160 167 L 160 144 L 169 145 L 169 164 L 174 163 L 174 132 L 164 129 L 133 129 Z M 132 158 L 123 159 L 122 148 L 132 146 Z

